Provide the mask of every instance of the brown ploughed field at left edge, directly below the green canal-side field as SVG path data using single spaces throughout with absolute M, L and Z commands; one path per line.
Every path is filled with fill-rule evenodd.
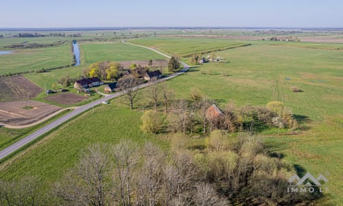
M 27 100 L 28 97 L 36 97 L 42 91 L 43 89 L 21 75 L 0 78 L 0 102 Z

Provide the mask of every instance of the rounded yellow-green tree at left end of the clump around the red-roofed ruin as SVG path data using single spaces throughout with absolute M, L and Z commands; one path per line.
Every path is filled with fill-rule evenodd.
M 159 113 L 154 113 L 153 111 L 145 111 L 142 117 L 141 129 L 145 133 L 161 133 L 163 131 L 165 117 Z

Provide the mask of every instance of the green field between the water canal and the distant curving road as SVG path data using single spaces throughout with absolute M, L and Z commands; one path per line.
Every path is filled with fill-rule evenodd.
M 113 43 L 82 43 L 82 62 L 91 64 L 99 61 L 125 61 L 161 59 L 163 56 L 150 50 L 126 45 L 120 42 Z

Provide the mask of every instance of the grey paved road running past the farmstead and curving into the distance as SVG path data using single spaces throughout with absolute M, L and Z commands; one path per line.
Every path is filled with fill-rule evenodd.
M 122 43 L 126 43 L 125 41 L 122 41 Z M 134 45 L 132 43 L 126 43 L 129 45 Z M 134 45 L 137 47 L 144 47 L 141 45 Z M 150 47 L 144 47 L 146 49 L 150 49 L 158 54 L 161 54 L 167 58 L 170 58 L 170 56 L 167 56 L 166 54 L 163 54 L 161 52 L 158 52 L 156 49 L 152 49 Z M 171 76 L 168 76 L 167 78 L 163 78 L 161 80 L 158 80 L 156 82 L 147 82 L 145 84 L 141 84 L 138 87 L 134 87 L 134 90 L 137 89 L 141 89 L 144 87 L 148 87 L 152 84 L 156 84 L 158 82 L 162 82 L 164 80 L 169 80 L 171 78 L 174 78 L 176 76 L 179 76 L 182 73 L 185 73 L 188 69 L 189 69 L 189 65 L 187 65 L 185 62 L 181 62 L 181 64 L 183 65 L 184 69 L 180 70 L 178 73 L 174 73 Z M 67 122 L 69 119 L 80 115 L 81 113 L 83 113 L 84 111 L 87 111 L 88 109 L 93 108 L 93 106 L 97 106 L 98 104 L 102 104 L 102 102 L 107 101 L 107 100 L 111 100 L 113 98 L 117 98 L 120 95 L 123 95 L 123 92 L 119 92 L 119 93 L 115 93 L 113 95 L 108 95 L 104 98 L 101 98 L 99 100 L 96 100 L 94 102 L 91 102 L 89 104 L 86 104 L 84 106 L 80 106 L 79 108 L 76 108 L 74 111 L 72 111 L 71 113 L 68 113 L 67 115 L 64 115 L 63 117 L 60 117 L 59 119 L 56 119 L 54 122 L 51 122 L 50 124 L 48 124 L 47 126 L 44 126 L 43 128 L 40 128 L 39 130 L 36 130 L 36 132 L 32 133 L 31 135 L 28 135 L 27 137 L 24 137 L 23 139 L 17 141 L 16 143 L 12 144 L 11 146 L 8 146 L 7 148 L 3 149 L 0 151 L 0 159 L 3 159 L 4 157 L 7 157 L 8 155 L 10 155 L 12 152 L 19 150 L 20 148 L 22 148 L 23 146 L 25 146 L 26 144 L 28 144 L 30 141 L 33 141 L 34 139 L 37 139 L 38 137 L 44 135 L 45 133 L 49 132 L 50 130 L 56 128 L 57 126 L 60 126 L 61 124 L 63 124 L 64 122 Z

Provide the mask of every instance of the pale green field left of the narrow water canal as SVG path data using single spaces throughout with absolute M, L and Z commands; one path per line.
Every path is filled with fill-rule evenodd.
M 73 60 L 69 44 L 41 49 L 10 50 L 14 53 L 0 56 L 0 75 L 62 67 L 70 65 Z

